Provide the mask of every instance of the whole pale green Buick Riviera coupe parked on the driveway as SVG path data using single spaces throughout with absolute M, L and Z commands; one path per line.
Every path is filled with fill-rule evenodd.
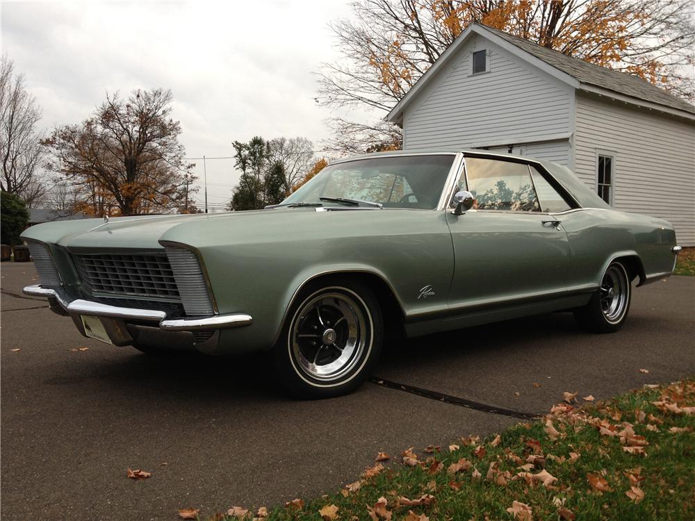
M 350 392 L 385 331 L 414 337 L 573 311 L 620 329 L 632 281 L 671 275 L 669 222 L 622 213 L 566 167 L 485 151 L 338 160 L 277 206 L 39 224 L 28 295 L 146 353 L 272 350 L 302 397 Z

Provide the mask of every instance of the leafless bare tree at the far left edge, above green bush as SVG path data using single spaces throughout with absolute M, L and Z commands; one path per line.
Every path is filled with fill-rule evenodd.
M 22 197 L 31 206 L 43 192 L 36 172 L 44 157 L 36 124 L 41 109 L 24 85 L 24 74 L 15 74 L 7 56 L 0 63 L 0 188 Z

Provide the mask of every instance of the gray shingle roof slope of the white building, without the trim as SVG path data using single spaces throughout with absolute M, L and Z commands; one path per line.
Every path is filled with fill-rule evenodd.
M 656 85 L 638 76 L 606 69 L 600 65 L 585 62 L 579 58 L 572 58 L 559 51 L 548 49 L 548 47 L 542 47 L 528 40 L 523 40 L 523 38 L 516 38 L 516 36 L 512 36 L 499 29 L 482 24 L 479 25 L 485 28 L 486 31 L 490 31 L 519 49 L 532 54 L 539 60 L 543 60 L 548 65 L 569 74 L 581 83 L 594 85 L 602 89 L 618 92 L 619 94 L 625 94 L 626 96 L 643 99 L 644 101 L 651 101 L 655 104 L 677 108 L 678 110 L 685 110 L 685 112 L 695 114 L 695 106 L 673 94 L 669 94 L 669 92 L 658 88 Z

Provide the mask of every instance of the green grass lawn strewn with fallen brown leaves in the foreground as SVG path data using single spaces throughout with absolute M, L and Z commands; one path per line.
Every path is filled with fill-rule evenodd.
M 393 454 L 345 489 L 265 519 L 695 519 L 695 379 L 582 404 L 499 436 Z

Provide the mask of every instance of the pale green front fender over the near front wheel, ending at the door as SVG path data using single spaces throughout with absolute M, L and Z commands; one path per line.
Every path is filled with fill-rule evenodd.
M 253 317 L 222 332 L 223 349 L 272 346 L 295 293 L 321 274 L 379 276 L 405 315 L 447 306 L 454 258 L 443 212 L 266 210 L 206 224 L 181 224 L 162 240 L 199 251 L 219 313 Z M 418 299 L 424 286 L 434 293 Z

